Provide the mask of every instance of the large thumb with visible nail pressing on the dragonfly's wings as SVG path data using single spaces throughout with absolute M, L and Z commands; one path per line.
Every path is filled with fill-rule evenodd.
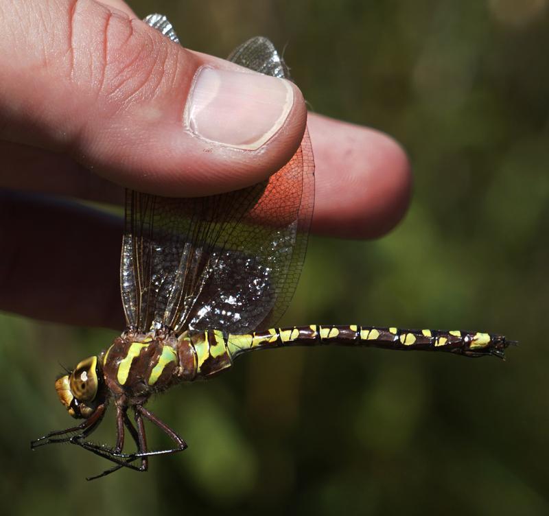
M 301 143 L 294 84 L 183 49 L 102 3 L 5 0 L 0 27 L 0 139 L 67 153 L 119 185 L 238 189 Z

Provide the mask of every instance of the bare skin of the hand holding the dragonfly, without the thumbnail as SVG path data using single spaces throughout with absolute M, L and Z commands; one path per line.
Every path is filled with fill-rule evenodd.
M 0 309 L 119 329 L 121 221 L 58 196 L 121 204 L 126 187 L 182 197 L 242 188 L 290 159 L 305 122 L 313 233 L 378 237 L 406 211 L 398 143 L 307 117 L 295 86 L 288 116 L 257 150 L 185 130 L 197 71 L 237 67 L 171 43 L 124 2 L 3 0 L 0 27 Z

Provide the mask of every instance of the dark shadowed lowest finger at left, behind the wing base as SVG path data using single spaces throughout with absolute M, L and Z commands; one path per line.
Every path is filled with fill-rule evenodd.
M 0 310 L 121 329 L 121 218 L 70 202 L 0 193 Z

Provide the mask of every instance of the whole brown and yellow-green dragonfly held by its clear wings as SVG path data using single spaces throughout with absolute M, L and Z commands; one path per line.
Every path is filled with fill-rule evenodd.
M 178 43 L 165 16 L 152 14 L 145 22 Z M 283 58 L 264 37 L 246 41 L 229 60 L 290 79 Z M 249 351 L 333 345 L 504 357 L 514 342 L 480 331 L 276 327 L 299 279 L 313 208 L 314 159 L 307 132 L 284 167 L 244 189 L 201 198 L 126 191 L 120 266 L 126 330 L 108 349 L 56 380 L 61 403 L 83 421 L 32 441 L 32 449 L 72 443 L 112 463 L 88 480 L 121 468 L 146 471 L 150 457 L 187 448 L 146 408 L 151 395 L 218 375 Z M 89 441 L 109 403 L 116 410 L 114 447 Z M 150 450 L 145 421 L 159 427 L 173 446 Z M 126 430 L 134 453 L 123 451 Z

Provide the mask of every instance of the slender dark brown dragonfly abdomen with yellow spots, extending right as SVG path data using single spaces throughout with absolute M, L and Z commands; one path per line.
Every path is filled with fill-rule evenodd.
M 471 331 L 410 330 L 396 327 L 320 326 L 271 328 L 246 335 L 229 335 L 226 349 L 235 357 L 254 351 L 287 346 L 360 346 L 407 351 L 446 351 L 478 357 L 504 358 L 504 349 L 513 344 L 504 336 Z

